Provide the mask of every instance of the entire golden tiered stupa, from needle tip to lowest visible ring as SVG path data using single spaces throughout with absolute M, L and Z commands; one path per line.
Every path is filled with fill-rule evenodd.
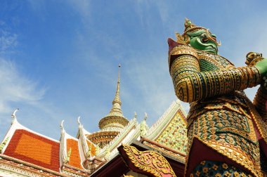
M 119 65 L 119 68 L 121 66 Z M 110 113 L 100 119 L 98 124 L 100 131 L 91 133 L 87 136 L 89 140 L 97 144 L 100 148 L 110 143 L 113 138 L 115 138 L 120 131 L 129 123 L 128 119 L 122 114 L 122 101 L 119 98 L 119 74 L 117 81 L 117 91 L 115 93 L 115 98 L 112 101 L 112 108 Z

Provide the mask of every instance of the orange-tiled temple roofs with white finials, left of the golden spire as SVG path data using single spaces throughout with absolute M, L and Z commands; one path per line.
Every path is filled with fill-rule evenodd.
M 62 122 L 61 137 L 58 141 L 22 126 L 15 115 L 13 118 L 11 128 L 0 143 L 0 154 L 36 165 L 46 171 L 67 171 L 86 176 L 89 174 L 83 162 L 96 156 L 96 145 L 84 136 L 84 133 L 89 132 L 84 131 L 82 124 L 79 123 L 79 137 L 74 138 L 65 132 Z

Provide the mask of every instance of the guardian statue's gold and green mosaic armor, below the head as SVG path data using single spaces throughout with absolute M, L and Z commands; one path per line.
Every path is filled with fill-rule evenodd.
M 169 68 L 176 96 L 190 103 L 187 176 L 203 160 L 228 162 L 245 169 L 244 175 L 261 176 L 258 139 L 267 142 L 267 129 L 255 107 L 263 109 L 262 92 L 253 105 L 243 91 L 261 82 L 257 68 L 235 67 L 220 55 L 178 43 L 170 48 Z M 200 145 L 193 145 L 195 140 L 204 154 L 196 158 L 192 154 Z

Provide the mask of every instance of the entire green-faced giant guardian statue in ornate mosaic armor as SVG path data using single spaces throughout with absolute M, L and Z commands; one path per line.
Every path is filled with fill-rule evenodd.
M 247 54 L 235 67 L 218 55 L 209 29 L 185 20 L 168 39 L 176 96 L 190 103 L 185 176 L 263 176 L 267 171 L 267 59 Z M 244 89 L 258 86 L 252 103 Z

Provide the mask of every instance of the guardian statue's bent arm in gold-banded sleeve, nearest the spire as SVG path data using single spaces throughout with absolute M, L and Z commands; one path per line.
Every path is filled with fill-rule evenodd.
M 176 96 L 184 102 L 190 103 L 231 91 L 244 90 L 258 85 L 261 81 L 256 67 L 200 72 L 197 55 L 191 52 L 186 54 L 177 48 L 174 48 L 176 52 L 169 55 L 169 67 Z

